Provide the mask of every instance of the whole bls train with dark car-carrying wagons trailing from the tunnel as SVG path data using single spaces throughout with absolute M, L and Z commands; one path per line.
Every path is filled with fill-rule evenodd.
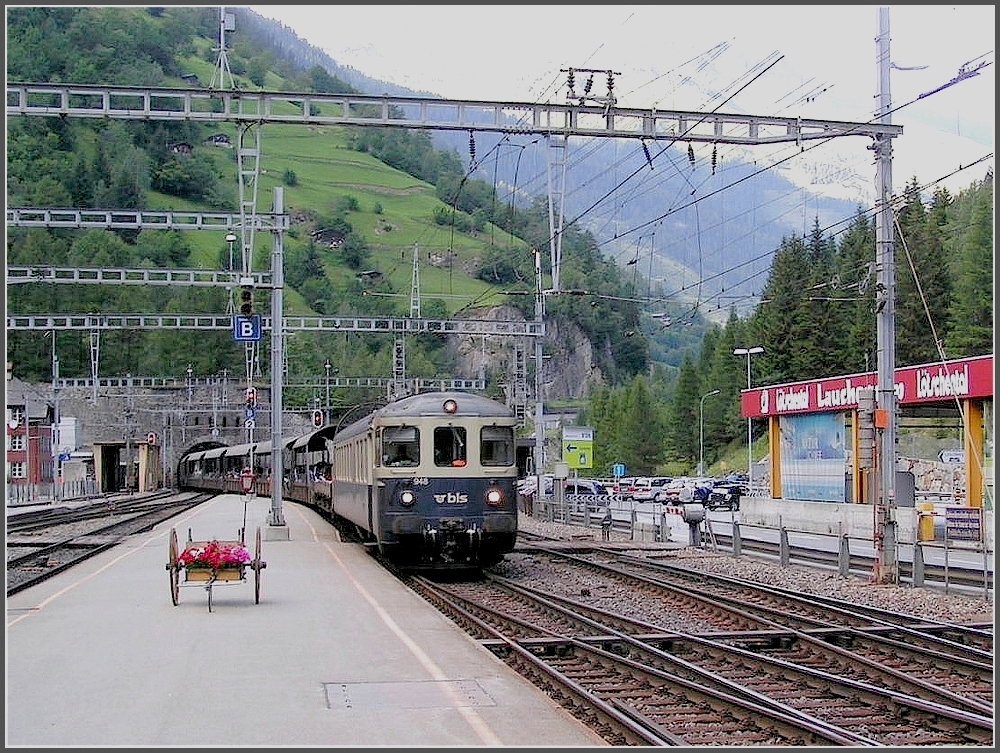
M 346 523 L 402 567 L 481 568 L 513 551 L 518 532 L 515 433 L 504 403 L 467 392 L 424 392 L 342 429 L 281 442 L 282 493 Z M 195 448 L 178 487 L 271 496 L 270 441 Z

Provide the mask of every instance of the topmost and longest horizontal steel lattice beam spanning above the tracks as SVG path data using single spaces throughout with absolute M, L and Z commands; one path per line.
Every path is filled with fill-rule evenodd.
M 903 132 L 901 126 L 882 122 L 852 123 L 572 103 L 18 82 L 7 83 L 7 115 L 392 126 L 746 146 L 802 144 L 839 136 L 892 137 Z

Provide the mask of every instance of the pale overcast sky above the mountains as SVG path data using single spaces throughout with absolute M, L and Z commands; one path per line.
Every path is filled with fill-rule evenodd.
M 565 102 L 572 67 L 613 71 L 623 107 L 865 122 L 877 105 L 878 5 L 248 7 L 341 65 L 449 99 Z M 894 188 L 913 176 L 967 187 L 994 162 L 995 7 L 884 7 L 892 123 L 903 127 Z M 607 94 L 606 74 L 592 94 Z M 834 141 L 871 163 L 857 139 Z

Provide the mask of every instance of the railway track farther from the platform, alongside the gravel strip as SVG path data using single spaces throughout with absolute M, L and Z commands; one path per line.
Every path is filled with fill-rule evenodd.
M 852 612 L 848 605 L 813 605 L 808 597 L 759 584 L 691 571 L 679 581 L 671 580 L 661 575 L 660 563 L 648 563 L 647 569 L 643 567 L 647 562 L 637 558 L 623 558 L 631 567 L 621 567 L 614 561 L 595 562 L 563 552 L 552 556 L 549 567 L 553 575 L 546 579 L 552 590 L 545 595 L 574 608 L 606 603 L 609 599 L 594 598 L 594 594 L 618 590 L 613 597 L 616 601 L 647 605 L 643 610 L 647 619 L 661 630 L 680 624 L 695 634 L 718 636 L 730 645 L 745 645 L 769 655 L 794 655 L 831 672 L 846 671 L 844 668 L 850 666 L 856 676 L 868 677 L 883 687 L 975 713 L 992 713 L 990 651 L 918 631 L 909 632 L 913 645 L 864 633 L 860 628 L 876 622 L 871 609 L 862 614 Z M 617 559 L 603 552 L 596 556 Z M 535 564 L 545 567 L 544 562 Z M 574 574 L 573 568 L 580 571 Z M 687 580 L 692 574 L 705 577 Z M 569 598 L 569 591 L 579 582 L 593 584 L 586 589 L 591 598 Z M 563 588 L 564 583 L 569 585 Z M 683 621 L 678 622 L 678 613 L 685 616 Z M 905 619 L 902 615 L 889 617 Z M 665 628 L 667 622 L 670 625 Z M 903 632 L 902 627 L 899 630 Z M 748 631 L 755 634 L 747 637 Z M 864 671 L 854 666 L 862 663 L 867 665 Z

